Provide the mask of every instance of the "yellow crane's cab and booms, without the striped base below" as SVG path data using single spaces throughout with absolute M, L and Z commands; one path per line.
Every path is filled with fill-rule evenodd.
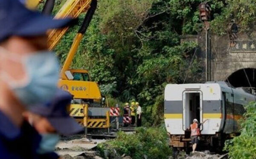
M 83 102 L 94 103 L 102 99 L 99 86 L 96 82 L 91 82 L 87 70 L 70 69 L 72 60 L 79 48 L 82 37 L 96 10 L 97 0 L 67 0 L 62 8 L 55 15 L 55 18 L 72 17 L 77 18 L 83 11 L 87 11 L 84 22 L 81 25 L 73 44 L 70 48 L 64 65 L 61 69 L 61 79 L 59 87 L 69 91 L 74 99 L 82 99 Z M 53 49 L 61 40 L 61 37 L 67 32 L 68 28 L 55 29 L 49 32 L 49 48 Z M 69 77 L 70 75 L 70 77 Z

